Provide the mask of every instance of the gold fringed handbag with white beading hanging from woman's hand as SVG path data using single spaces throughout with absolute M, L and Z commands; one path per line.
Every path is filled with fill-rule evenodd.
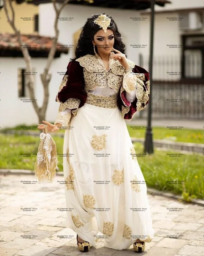
M 56 144 L 49 133 L 47 125 L 40 134 L 37 160 L 35 162 L 35 176 L 39 182 L 52 182 L 56 175 L 58 157 Z

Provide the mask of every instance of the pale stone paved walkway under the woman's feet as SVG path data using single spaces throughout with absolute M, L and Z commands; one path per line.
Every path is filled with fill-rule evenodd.
M 1 256 L 83 255 L 76 246 L 76 233 L 67 228 L 66 212 L 58 209 L 65 208 L 61 180 L 63 176 L 56 176 L 53 183 L 39 184 L 34 175 L 0 176 Z M 145 252 L 135 254 L 133 247 L 116 251 L 101 241 L 85 255 L 203 256 L 204 208 L 163 196 L 148 198 L 155 236 Z

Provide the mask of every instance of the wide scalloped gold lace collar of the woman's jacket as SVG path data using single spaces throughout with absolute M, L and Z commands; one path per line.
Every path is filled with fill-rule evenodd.
M 97 57 L 95 55 L 86 54 L 80 58 L 77 58 L 76 61 L 79 62 L 80 66 L 84 67 L 89 72 L 109 72 L 106 70 L 101 57 Z M 131 68 L 135 67 L 135 63 L 131 60 L 128 60 L 128 64 Z M 112 73 L 116 75 L 124 75 L 125 69 L 120 64 L 118 60 L 110 59 L 109 61 L 109 70 L 112 70 Z

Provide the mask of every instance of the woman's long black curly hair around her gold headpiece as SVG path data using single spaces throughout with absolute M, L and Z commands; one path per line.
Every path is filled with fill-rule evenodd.
M 111 19 L 110 26 L 107 29 L 111 29 L 114 34 L 114 48 L 119 50 L 120 52 L 125 54 L 125 45 L 122 42 L 122 35 L 118 31 L 118 27 L 115 21 L 112 19 L 111 16 L 107 15 L 105 12 L 92 15 L 90 18 L 87 19 L 84 27 L 82 27 L 82 31 L 80 33 L 76 49 L 75 49 L 75 58 L 70 58 L 70 61 L 74 61 L 79 57 L 85 56 L 86 54 L 95 55 L 93 49 L 92 40 L 94 38 L 94 34 L 99 31 L 99 25 L 95 24 L 93 21 L 98 18 L 101 14 L 105 14 L 107 17 Z M 96 48 L 97 52 L 97 48 Z M 126 56 L 127 58 L 127 56 Z

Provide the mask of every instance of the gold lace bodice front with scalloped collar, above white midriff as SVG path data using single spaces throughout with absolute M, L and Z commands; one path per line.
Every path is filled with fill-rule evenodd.
M 105 69 L 102 59 L 94 55 L 86 54 L 77 58 L 76 61 L 84 68 L 86 93 L 96 87 L 105 88 L 106 86 L 114 89 L 116 93 L 119 92 L 123 83 L 125 69 L 118 60 L 110 58 L 109 71 Z M 135 67 L 133 61 L 128 60 L 128 64 L 131 68 Z

